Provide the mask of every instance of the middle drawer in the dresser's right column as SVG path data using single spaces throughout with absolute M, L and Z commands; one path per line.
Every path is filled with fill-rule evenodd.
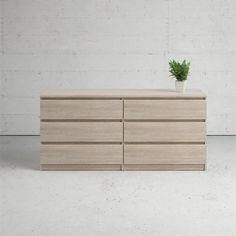
M 125 142 L 205 142 L 205 122 L 125 122 Z

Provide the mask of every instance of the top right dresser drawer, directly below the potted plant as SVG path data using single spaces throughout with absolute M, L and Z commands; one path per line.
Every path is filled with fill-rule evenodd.
M 206 119 L 205 100 L 125 100 L 125 119 Z

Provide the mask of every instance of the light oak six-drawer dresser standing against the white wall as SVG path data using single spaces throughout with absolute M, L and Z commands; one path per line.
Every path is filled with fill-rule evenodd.
M 40 98 L 41 170 L 205 170 L 199 90 L 53 90 Z

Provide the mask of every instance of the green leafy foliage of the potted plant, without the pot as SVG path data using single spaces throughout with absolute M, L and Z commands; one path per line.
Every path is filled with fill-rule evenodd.
M 184 60 L 182 63 L 176 62 L 175 60 L 169 61 L 169 72 L 170 76 L 174 77 L 178 81 L 185 81 L 188 78 L 190 62 Z

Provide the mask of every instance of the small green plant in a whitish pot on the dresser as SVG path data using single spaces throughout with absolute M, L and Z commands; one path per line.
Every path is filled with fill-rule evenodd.
M 169 61 L 169 72 L 170 76 L 176 79 L 175 89 L 179 93 L 183 93 L 185 89 L 185 80 L 188 78 L 190 62 L 184 60 L 182 63 L 176 62 L 175 60 Z

